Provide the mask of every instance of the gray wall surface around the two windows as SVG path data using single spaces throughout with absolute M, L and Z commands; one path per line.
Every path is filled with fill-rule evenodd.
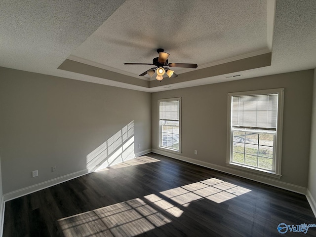
M 307 70 L 153 93 L 152 148 L 158 149 L 157 100 L 182 97 L 181 156 L 226 167 L 227 93 L 284 87 L 281 181 L 307 187 L 313 74 Z

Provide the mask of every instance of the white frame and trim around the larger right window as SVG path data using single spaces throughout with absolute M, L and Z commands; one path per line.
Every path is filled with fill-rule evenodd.
M 232 121 L 232 98 L 233 96 L 251 96 L 251 95 L 268 95 L 278 93 L 277 101 L 277 121 L 276 121 L 276 134 L 274 141 L 274 158 L 273 166 L 274 171 L 260 169 L 257 167 L 247 166 L 245 164 L 238 164 L 232 162 L 233 158 L 233 127 Z M 282 158 L 282 130 L 283 130 L 283 107 L 284 107 L 284 88 L 266 89 L 266 90 L 254 90 L 243 92 L 228 93 L 227 100 L 227 166 L 241 169 L 244 171 L 250 171 L 257 174 L 262 174 L 270 177 L 281 178 L 281 158 Z M 258 129 L 260 130 L 260 129 Z M 259 132 L 258 132 L 259 133 Z

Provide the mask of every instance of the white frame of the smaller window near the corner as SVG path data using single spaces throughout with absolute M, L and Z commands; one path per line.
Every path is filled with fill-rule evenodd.
M 161 146 L 160 102 L 172 102 L 172 101 L 179 101 L 179 150 L 174 150 L 171 148 Z M 167 151 L 167 152 L 176 153 L 176 154 L 181 154 L 181 97 L 158 100 L 158 149 Z

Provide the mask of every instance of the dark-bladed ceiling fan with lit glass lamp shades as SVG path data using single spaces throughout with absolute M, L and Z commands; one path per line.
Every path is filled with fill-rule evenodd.
M 143 72 L 139 76 L 145 76 L 148 74 L 150 77 L 153 77 L 155 71 L 157 72 L 156 79 L 162 80 L 163 75 L 166 74 L 169 78 L 178 77 L 174 71 L 170 70 L 168 67 L 176 67 L 176 68 L 197 68 L 197 64 L 195 63 L 168 63 L 169 53 L 164 52 L 163 48 L 158 48 L 157 52 L 159 57 L 153 59 L 153 63 L 124 63 L 124 65 L 154 65 L 156 67 Z

